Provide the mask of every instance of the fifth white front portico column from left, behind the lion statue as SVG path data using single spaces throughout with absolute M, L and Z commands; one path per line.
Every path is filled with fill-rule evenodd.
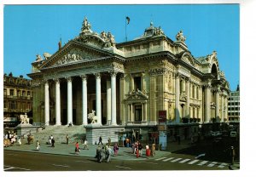
M 102 88 L 101 73 L 96 73 L 96 116 L 97 122 L 102 125 Z

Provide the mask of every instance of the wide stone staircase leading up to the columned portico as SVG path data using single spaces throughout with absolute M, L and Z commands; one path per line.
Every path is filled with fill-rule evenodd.
M 84 125 L 81 126 L 46 126 L 44 130 L 38 133 L 33 133 L 34 139 L 39 140 L 41 143 L 48 142 L 49 136 L 53 135 L 55 142 L 66 143 L 66 136 L 68 134 L 69 142 L 73 143 L 76 141 L 81 142 L 85 139 L 85 128 Z

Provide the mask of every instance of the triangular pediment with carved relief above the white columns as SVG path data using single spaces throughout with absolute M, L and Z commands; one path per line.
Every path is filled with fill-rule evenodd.
M 90 47 L 90 45 L 84 43 L 71 41 L 55 54 L 51 55 L 49 59 L 45 60 L 39 69 L 100 60 L 110 56 L 113 56 L 113 54 L 108 53 L 108 51 Z

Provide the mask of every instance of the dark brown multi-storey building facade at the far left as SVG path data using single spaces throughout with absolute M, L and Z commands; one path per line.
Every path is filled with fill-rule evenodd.
M 32 118 L 32 80 L 23 76 L 3 75 L 3 121 L 4 125 L 20 122 L 20 115 Z

